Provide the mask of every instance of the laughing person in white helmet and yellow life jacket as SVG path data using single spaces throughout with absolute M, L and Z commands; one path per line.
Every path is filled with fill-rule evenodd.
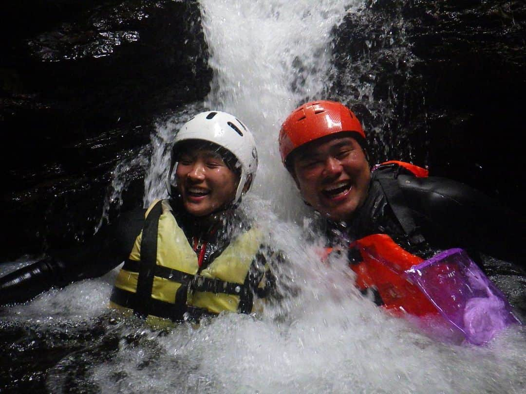
M 254 137 L 236 117 L 201 112 L 177 133 L 170 198 L 123 214 L 74 251 L 0 278 L 0 304 L 102 276 L 124 261 L 110 306 L 157 320 L 250 313 L 274 283 L 275 254 L 237 210 L 257 169 Z

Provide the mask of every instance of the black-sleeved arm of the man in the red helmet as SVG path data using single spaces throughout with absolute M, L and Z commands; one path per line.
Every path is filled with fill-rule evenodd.
M 471 248 L 524 268 L 524 218 L 518 213 L 460 182 L 406 175 L 398 179 L 432 244 Z

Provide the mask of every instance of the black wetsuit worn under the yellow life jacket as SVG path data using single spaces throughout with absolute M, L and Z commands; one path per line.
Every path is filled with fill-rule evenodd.
M 170 205 L 177 206 L 174 201 L 170 201 Z M 52 287 L 64 287 L 108 273 L 128 258 L 137 236 L 143 230 L 145 212 L 145 209 L 136 209 L 123 213 L 117 221 L 104 225 L 81 246 L 50 253 L 44 260 L 3 276 L 0 278 L 0 305 L 24 302 Z M 200 271 L 225 250 L 239 230 L 249 228 L 247 218 L 239 210 L 224 211 L 216 215 L 212 222 L 199 221 L 181 210 L 173 212 L 189 244 L 196 246 L 197 255 L 201 254 L 200 246 L 205 245 Z M 250 287 L 259 297 L 267 296 L 274 283 L 274 277 L 268 271 L 259 272 L 271 254 L 272 251 L 262 245 L 255 257 L 258 261 L 251 265 L 258 272 L 249 272 L 249 276 L 254 277 Z M 262 275 L 267 278 L 264 292 L 257 288 Z

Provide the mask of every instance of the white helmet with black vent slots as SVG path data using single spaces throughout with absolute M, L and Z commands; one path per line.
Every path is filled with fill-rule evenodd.
M 201 112 L 187 121 L 180 128 L 174 141 L 167 179 L 168 192 L 170 194 L 171 186 L 173 186 L 174 158 L 177 156 L 177 146 L 179 143 L 187 140 L 213 142 L 234 155 L 241 170 L 234 198 L 234 202 L 239 202 L 245 184 L 249 182 L 248 188 L 250 188 L 258 168 L 256 141 L 250 130 L 235 116 L 221 111 Z

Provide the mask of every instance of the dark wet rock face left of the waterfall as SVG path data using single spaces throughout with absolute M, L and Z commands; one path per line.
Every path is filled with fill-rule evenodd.
M 109 171 L 211 80 L 195 1 L 9 1 L 3 17 L 12 21 L 0 41 L 12 231 L 0 260 L 93 233 Z M 136 204 L 141 182 L 128 192 Z

